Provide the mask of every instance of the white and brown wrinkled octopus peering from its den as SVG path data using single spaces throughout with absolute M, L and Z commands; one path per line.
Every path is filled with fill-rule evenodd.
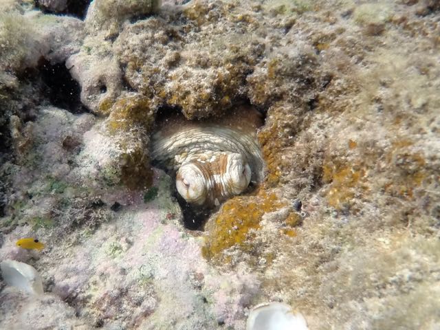
M 187 203 L 212 207 L 239 195 L 265 175 L 256 137 L 261 113 L 240 106 L 222 118 L 187 120 L 173 114 L 157 124 L 152 137 L 153 164 L 175 177 Z

